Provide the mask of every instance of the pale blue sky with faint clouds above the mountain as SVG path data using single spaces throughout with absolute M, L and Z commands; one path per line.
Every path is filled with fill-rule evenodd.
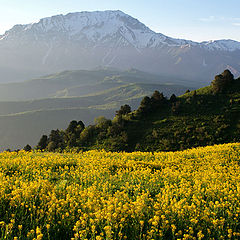
M 69 12 L 122 10 L 156 32 L 194 41 L 240 41 L 240 0 L 0 0 L 0 34 Z

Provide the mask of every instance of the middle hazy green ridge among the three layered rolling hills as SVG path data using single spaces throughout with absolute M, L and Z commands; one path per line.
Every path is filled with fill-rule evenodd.
M 176 85 L 162 84 L 126 84 L 114 87 L 94 94 L 88 94 L 81 97 L 58 97 L 35 99 L 28 101 L 6 101 L 0 102 L 0 115 L 21 113 L 34 110 L 48 110 L 56 108 L 73 107 L 96 107 L 103 109 L 118 108 L 121 103 L 131 103 L 136 108 L 141 99 L 154 90 L 164 92 L 167 96 L 172 93 L 182 94 L 186 91 L 185 87 Z

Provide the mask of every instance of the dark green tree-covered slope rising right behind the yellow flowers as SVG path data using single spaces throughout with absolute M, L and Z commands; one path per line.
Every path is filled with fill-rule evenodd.
M 232 73 L 225 70 L 210 86 L 182 96 L 172 95 L 167 99 L 155 91 L 151 97 L 145 96 L 135 111 L 123 105 L 112 121 L 99 118 L 95 125 L 84 129 L 81 123 L 73 121 L 66 131 L 57 133 L 65 139 L 61 144 L 52 144 L 56 137 L 51 134 L 48 138 L 51 147 L 47 145 L 51 151 L 74 147 L 79 150 L 175 151 L 239 142 L 240 78 L 234 80 Z

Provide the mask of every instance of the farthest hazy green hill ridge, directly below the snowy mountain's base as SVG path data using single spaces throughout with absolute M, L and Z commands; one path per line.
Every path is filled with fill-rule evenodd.
M 20 83 L 0 84 L 0 101 L 26 101 L 51 97 L 79 97 L 131 83 L 179 85 L 184 80 L 135 69 L 64 71 Z

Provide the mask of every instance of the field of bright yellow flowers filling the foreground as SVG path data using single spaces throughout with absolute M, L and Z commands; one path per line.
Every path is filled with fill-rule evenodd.
M 240 239 L 240 144 L 0 154 L 0 239 Z

